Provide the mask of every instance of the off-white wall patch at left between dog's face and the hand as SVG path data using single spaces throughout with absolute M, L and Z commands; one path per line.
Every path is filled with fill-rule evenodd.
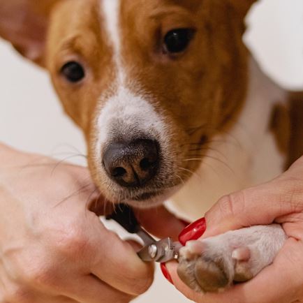
M 43 154 L 85 151 L 80 131 L 61 110 L 47 73 L 0 40 L 0 140 Z M 64 147 L 62 147 L 64 145 Z

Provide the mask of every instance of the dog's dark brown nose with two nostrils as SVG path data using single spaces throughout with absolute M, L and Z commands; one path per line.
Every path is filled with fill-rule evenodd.
M 127 187 L 142 186 L 153 179 L 158 163 L 158 142 L 147 139 L 112 143 L 103 156 L 108 176 Z

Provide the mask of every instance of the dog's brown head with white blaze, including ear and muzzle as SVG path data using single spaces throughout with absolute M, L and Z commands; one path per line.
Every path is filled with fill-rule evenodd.
M 0 35 L 50 71 L 114 202 L 163 202 L 196 170 L 246 91 L 253 0 L 10 0 Z

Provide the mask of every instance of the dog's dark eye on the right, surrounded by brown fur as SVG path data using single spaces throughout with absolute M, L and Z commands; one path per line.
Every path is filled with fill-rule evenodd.
M 183 52 L 193 38 L 193 29 L 172 29 L 164 37 L 164 51 L 176 54 Z

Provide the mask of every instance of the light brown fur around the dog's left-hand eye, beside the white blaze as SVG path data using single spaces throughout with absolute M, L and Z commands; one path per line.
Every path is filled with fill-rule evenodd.
M 70 14 L 73 6 L 73 14 Z M 110 82 L 112 52 L 105 45 L 96 0 L 66 0 L 52 13 L 46 45 L 46 67 L 67 114 L 89 138 L 92 117 L 101 91 Z M 78 15 L 82 15 L 78 18 Z M 85 84 L 71 84 L 59 73 L 67 61 L 87 69 Z

